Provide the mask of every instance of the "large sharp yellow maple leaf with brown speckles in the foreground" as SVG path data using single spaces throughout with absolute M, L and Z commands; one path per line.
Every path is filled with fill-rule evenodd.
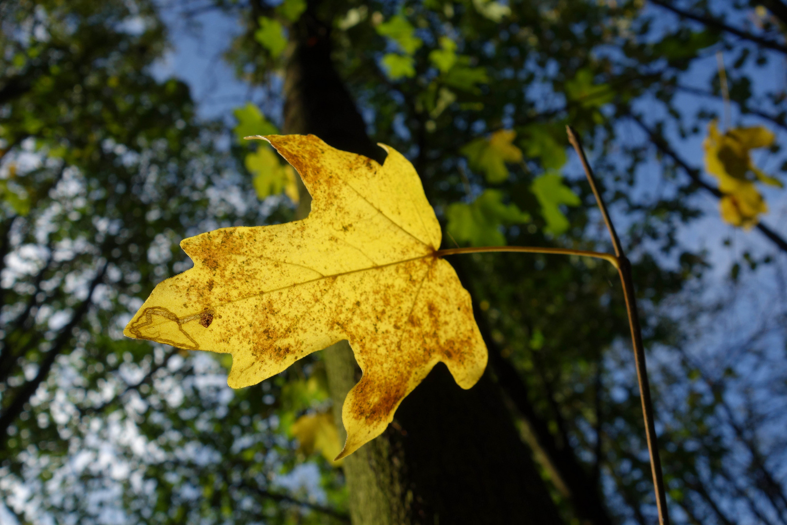
M 381 145 L 379 165 L 313 135 L 264 139 L 301 174 L 309 216 L 184 239 L 194 268 L 159 283 L 124 334 L 231 353 L 233 388 L 348 339 L 364 375 L 342 407 L 339 459 L 381 434 L 439 361 L 473 386 L 486 346 L 470 294 L 436 255 L 440 224 L 401 153 Z

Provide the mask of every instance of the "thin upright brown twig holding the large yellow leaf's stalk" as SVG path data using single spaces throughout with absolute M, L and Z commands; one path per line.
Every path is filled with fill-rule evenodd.
M 590 188 L 593 190 L 593 195 L 596 197 L 596 202 L 604 216 L 604 223 L 607 224 L 609 236 L 612 239 L 612 246 L 615 247 L 615 259 L 619 264 L 616 265 L 620 280 L 623 283 L 623 297 L 626 299 L 626 312 L 629 316 L 629 327 L 631 329 L 631 342 L 634 344 L 634 364 L 637 367 L 637 383 L 639 383 L 640 399 L 642 401 L 642 416 L 645 419 L 645 437 L 648 440 L 648 453 L 650 453 L 650 468 L 653 475 L 653 485 L 656 491 L 656 507 L 659 510 L 659 523 L 660 525 L 669 525 L 670 519 L 667 513 L 667 495 L 664 490 L 664 479 L 661 471 L 661 459 L 659 456 L 659 447 L 656 442 L 656 423 L 653 416 L 653 404 L 650 397 L 650 383 L 648 382 L 648 370 L 645 367 L 645 346 L 642 344 L 642 329 L 639 322 L 639 315 L 637 313 L 637 299 L 634 296 L 634 279 L 631 277 L 631 263 L 623 253 L 623 246 L 620 244 L 620 238 L 615 231 L 615 226 L 609 217 L 607 206 L 598 191 L 596 179 L 593 177 L 593 170 L 585 156 L 585 151 L 582 150 L 582 144 L 579 142 L 579 137 L 571 126 L 566 126 L 568 133 L 568 142 L 574 146 L 580 160 L 582 167 L 585 168 L 585 175 L 590 183 Z

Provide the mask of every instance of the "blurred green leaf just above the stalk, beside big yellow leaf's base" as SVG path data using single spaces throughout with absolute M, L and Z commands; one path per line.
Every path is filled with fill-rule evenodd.
M 503 204 L 503 192 L 484 190 L 470 204 L 454 202 L 445 210 L 446 230 L 456 242 L 472 246 L 504 246 L 502 226 L 530 222 L 530 215 L 514 204 Z

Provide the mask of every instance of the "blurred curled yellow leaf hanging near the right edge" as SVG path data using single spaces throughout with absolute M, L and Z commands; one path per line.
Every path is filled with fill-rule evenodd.
M 781 182 L 766 175 L 754 165 L 751 150 L 770 146 L 774 134 L 767 128 L 733 128 L 723 135 L 715 120 L 708 124 L 708 137 L 703 142 L 705 169 L 719 180 L 719 201 L 722 219 L 733 226 L 750 228 L 767 213 L 768 205 L 755 187 L 756 180 L 781 187 Z

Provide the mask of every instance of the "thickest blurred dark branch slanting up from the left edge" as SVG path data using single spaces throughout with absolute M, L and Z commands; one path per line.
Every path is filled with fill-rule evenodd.
M 52 343 L 52 347 L 44 354 L 42 360 L 39 361 L 39 372 L 33 379 L 20 386 L 16 392 L 16 395 L 13 397 L 13 400 L 2 413 L 2 416 L 0 416 L 0 450 L 6 447 L 8 427 L 11 426 L 11 423 L 17 420 L 17 417 L 24 410 L 24 405 L 30 401 L 30 398 L 33 396 L 33 394 L 35 394 L 35 390 L 37 390 L 43 380 L 46 379 L 46 375 L 49 375 L 50 369 L 54 364 L 54 360 L 58 355 L 60 355 L 63 349 L 65 349 L 66 344 L 73 337 L 72 330 L 79 326 L 79 323 L 82 322 L 83 317 L 90 309 L 93 301 L 93 292 L 96 287 L 98 287 L 98 284 L 104 279 L 106 267 L 107 263 L 104 263 L 102 268 L 98 270 L 98 274 L 91 282 L 90 287 L 88 287 L 87 298 L 85 298 L 85 300 L 82 301 L 79 307 L 74 311 L 74 314 L 71 320 L 68 321 L 68 324 L 61 328 L 60 334 L 57 335 L 57 338 L 55 338 L 54 342 Z

